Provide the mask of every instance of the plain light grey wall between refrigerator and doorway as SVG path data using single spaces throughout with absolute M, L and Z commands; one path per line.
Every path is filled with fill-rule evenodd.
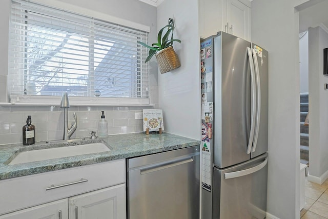
M 299 19 L 295 4 L 252 1 L 252 41 L 269 51 L 268 218 L 300 218 Z

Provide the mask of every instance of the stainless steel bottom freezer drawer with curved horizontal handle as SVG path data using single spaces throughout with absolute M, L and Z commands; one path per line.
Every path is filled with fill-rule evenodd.
M 213 219 L 265 218 L 268 154 L 226 168 L 214 168 Z

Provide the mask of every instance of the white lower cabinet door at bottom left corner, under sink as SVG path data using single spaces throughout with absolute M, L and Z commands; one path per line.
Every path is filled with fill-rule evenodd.
M 67 198 L 4 214 L 0 219 L 68 219 Z

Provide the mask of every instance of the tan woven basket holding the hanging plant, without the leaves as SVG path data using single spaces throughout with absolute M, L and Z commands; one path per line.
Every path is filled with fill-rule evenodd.
M 180 60 L 173 47 L 162 49 L 155 54 L 160 73 L 166 73 L 181 66 Z

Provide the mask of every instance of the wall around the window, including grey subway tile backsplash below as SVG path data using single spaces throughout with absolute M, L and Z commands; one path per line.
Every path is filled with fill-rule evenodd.
M 50 1 L 37 0 L 49 4 Z M 109 14 L 121 19 L 146 25 L 150 27 L 149 41 L 157 39 L 157 9 L 156 7 L 137 0 L 58 0 L 65 2 L 75 9 L 95 11 Z M 10 14 L 10 0 L 2 0 L 0 7 L 0 102 L 7 102 L 6 81 L 8 74 L 8 24 Z M 53 1 L 51 1 L 53 4 Z M 79 13 L 79 11 L 75 11 Z M 152 61 L 150 66 L 150 98 L 151 103 L 158 107 L 157 88 L 157 64 Z M 59 103 L 58 103 L 59 104 Z M 101 110 L 105 110 L 106 119 L 109 122 L 109 133 L 130 133 L 142 131 L 142 120 L 135 120 L 134 113 L 142 112 L 146 107 L 71 107 L 69 109 L 70 120 L 72 112 L 77 113 L 77 130 L 75 137 L 90 136 L 91 130 L 96 130 L 97 121 Z M 147 107 L 153 108 L 153 107 Z M 25 125 L 27 115 L 32 116 L 32 122 L 36 126 L 36 141 L 58 140 L 63 137 L 64 118 L 63 110 L 55 107 L 35 106 L 0 106 L 0 144 L 22 142 L 22 127 Z

